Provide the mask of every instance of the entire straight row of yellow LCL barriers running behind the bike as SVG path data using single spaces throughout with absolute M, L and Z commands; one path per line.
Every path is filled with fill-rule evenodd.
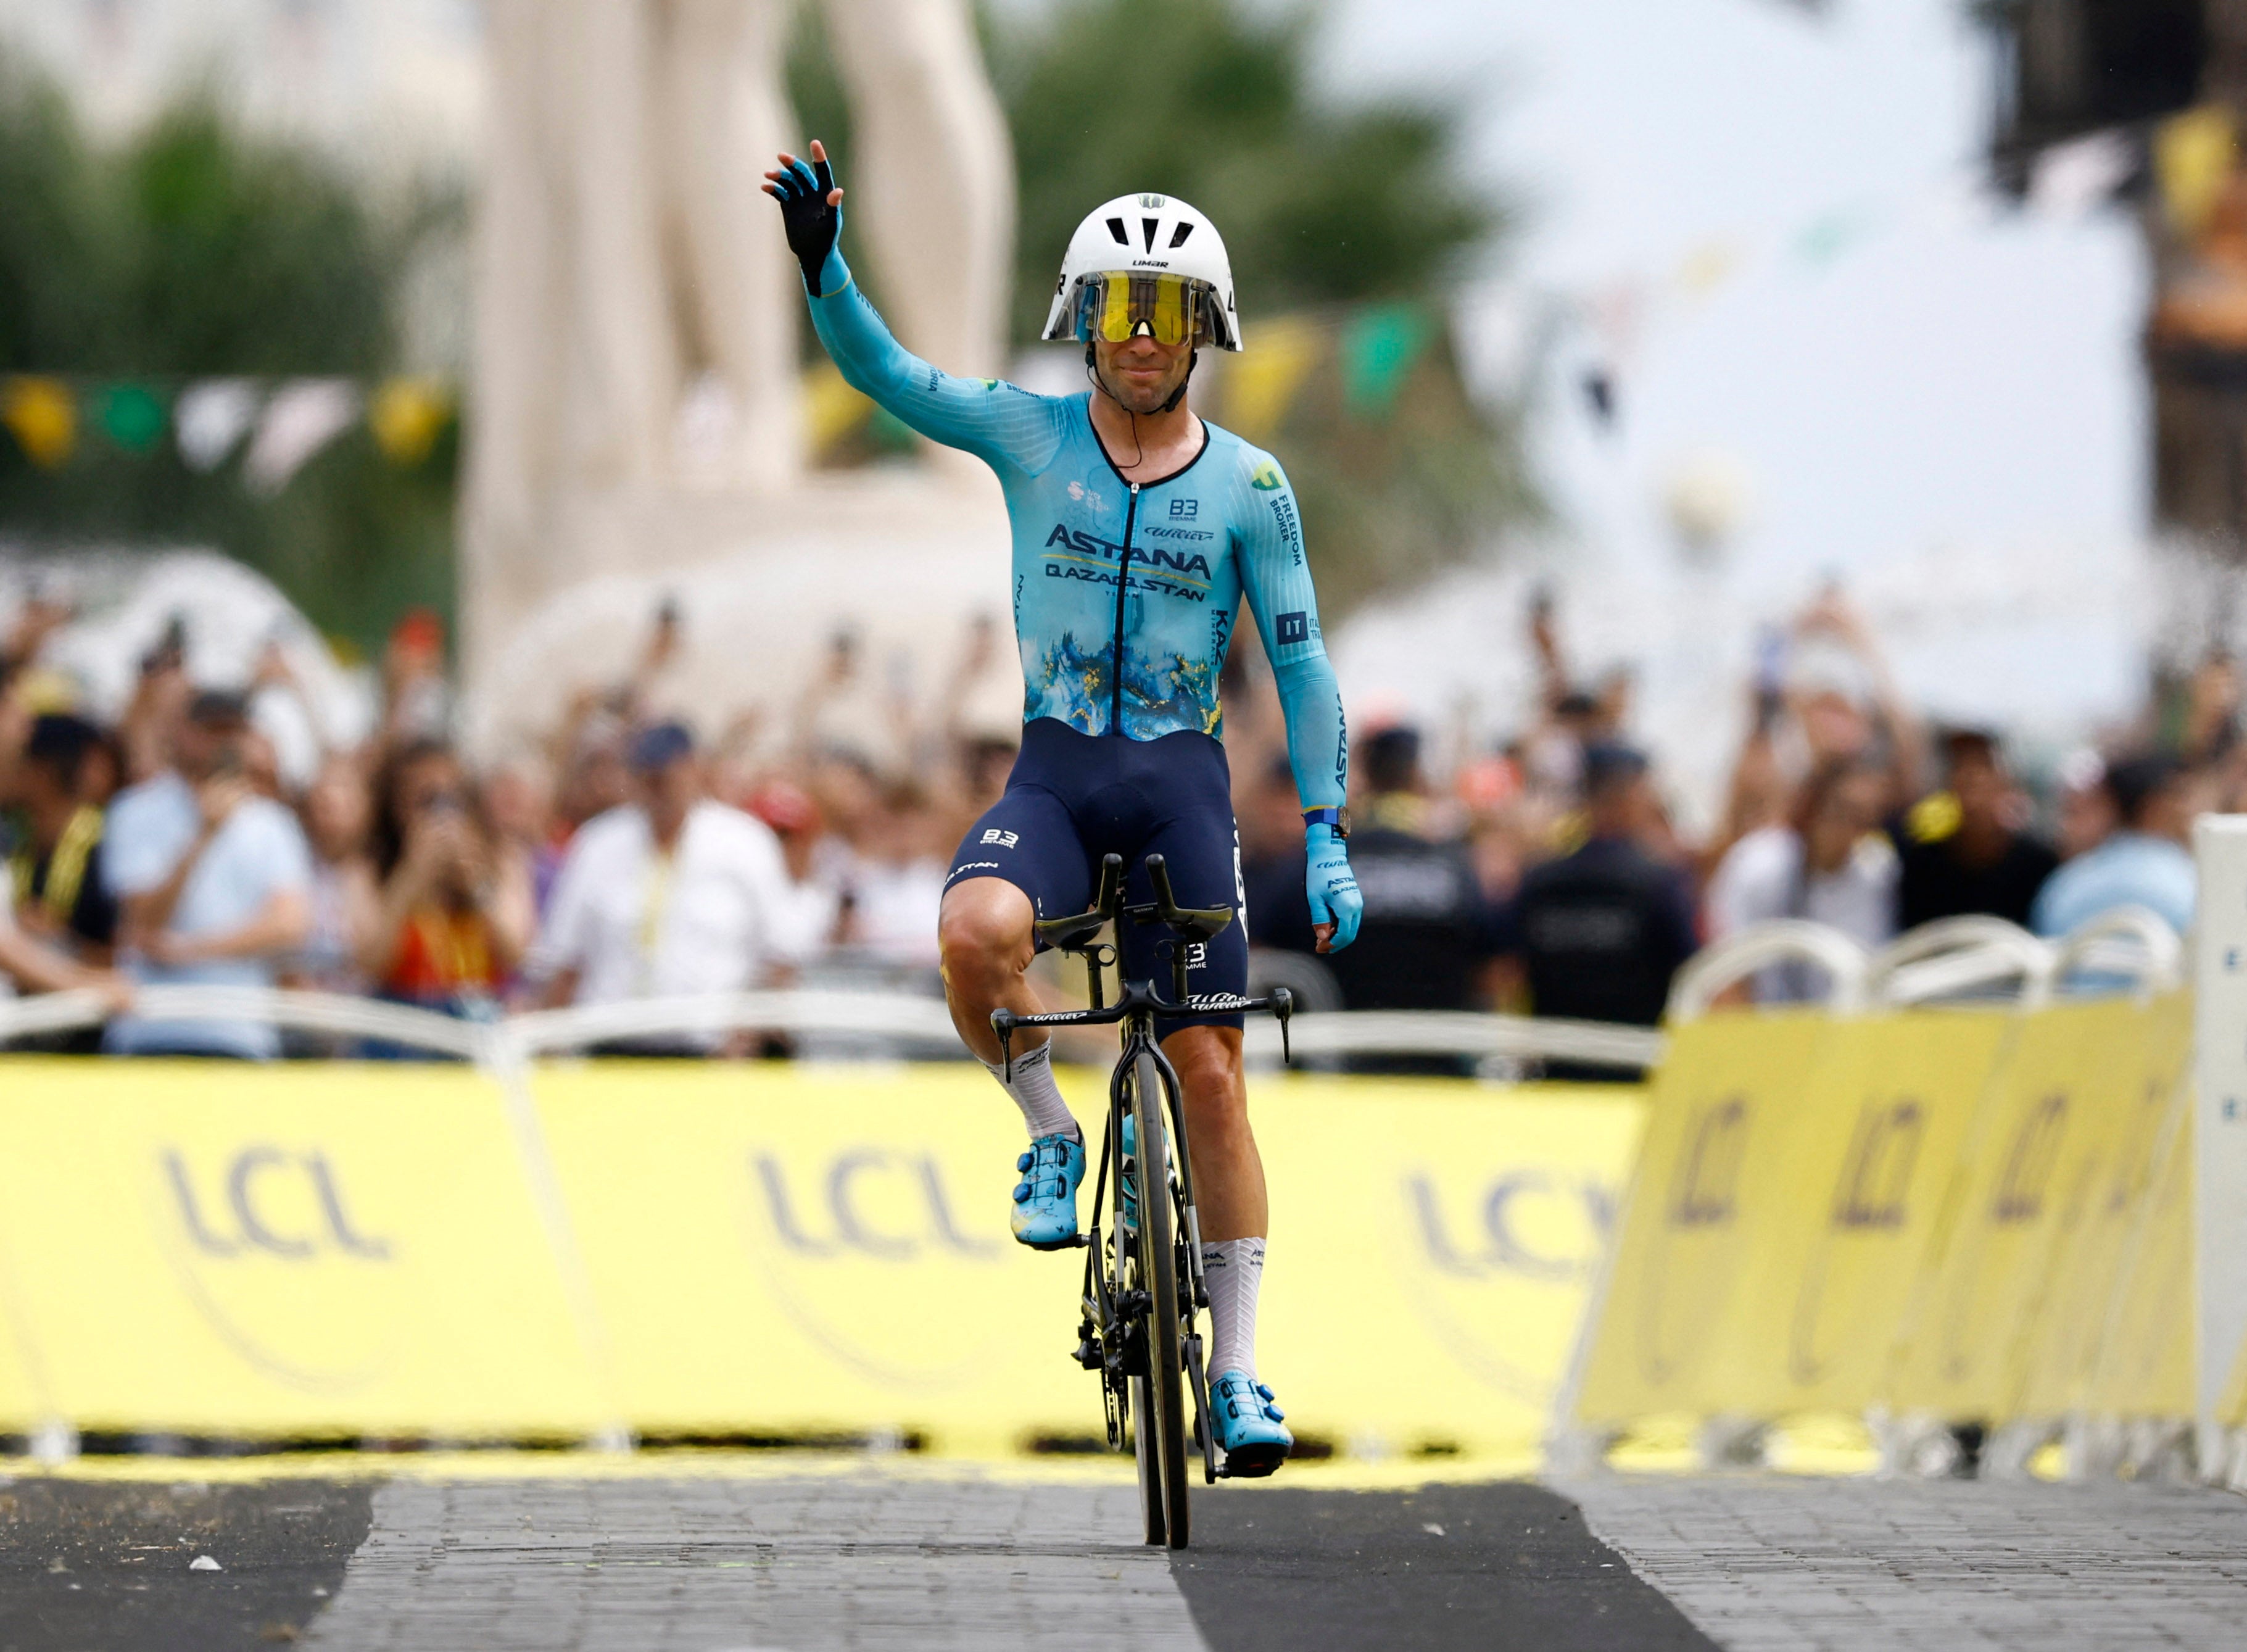
M 1106 1074 L 1063 1074 L 1090 1122 Z M 1101 1427 L 1081 1252 L 1007 1234 L 982 1072 L 0 1059 L 0 1429 L 458 1438 Z M 1346 1447 L 1526 1456 L 1634 1090 L 1254 1083 L 1261 1360 Z M 553 1178 L 546 1167 L 553 1167 Z

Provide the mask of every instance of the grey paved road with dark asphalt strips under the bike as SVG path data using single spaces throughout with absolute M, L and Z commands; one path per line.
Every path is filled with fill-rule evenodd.
M 0 1652 L 2238 1648 L 2247 1501 L 1975 1483 L 885 1472 L 0 1483 Z M 218 1571 L 193 1571 L 198 1555 Z

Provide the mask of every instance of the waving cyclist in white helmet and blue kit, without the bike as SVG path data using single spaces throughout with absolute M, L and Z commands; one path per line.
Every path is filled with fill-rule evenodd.
M 1029 1126 L 1013 1234 L 1076 1238 L 1085 1142 L 1054 1083 L 1052 1050 L 1000 1065 L 991 1011 L 1040 1009 L 1025 969 L 1038 917 L 1081 913 L 1094 868 L 1121 854 L 1146 901 L 1162 854 L 1184 906 L 1245 906 L 1240 836 L 1220 744 L 1218 672 L 1243 602 L 1279 679 L 1310 850 L 1319 951 L 1348 946 L 1362 901 L 1344 847 L 1348 730 L 1319 636 L 1294 492 L 1279 463 L 1186 405 L 1195 351 L 1240 348 L 1231 265 L 1182 200 L 1124 196 L 1070 238 L 1047 339 L 1085 346 L 1090 391 L 1034 396 L 953 378 L 903 351 L 838 249 L 843 191 L 820 144 L 766 173 L 804 270 L 811 321 L 843 378 L 930 441 L 989 463 L 1013 521 L 1013 625 L 1022 654 L 1022 753 L 1007 793 L 959 845 L 939 913 L 953 1025 Z M 1162 980 L 1150 931 L 1117 937 L 1128 980 Z M 1189 953 L 1200 1014 L 1168 1023 L 1202 1220 L 1211 1412 L 1234 1474 L 1270 1474 L 1294 1438 L 1256 1373 L 1265 1180 L 1240 1072 L 1247 933 Z M 1128 1211 L 1126 1211 L 1128 1218 Z

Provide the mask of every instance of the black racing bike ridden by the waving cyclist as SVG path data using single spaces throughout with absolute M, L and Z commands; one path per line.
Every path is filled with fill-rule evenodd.
M 1186 1110 L 1177 1072 L 1162 1054 L 1155 1027 L 1182 1016 L 1211 1011 L 1270 1011 L 1288 1054 L 1288 1016 L 1294 1000 L 1285 987 L 1270 998 L 1202 993 L 1186 987 L 1195 948 L 1207 946 L 1234 922 L 1234 908 L 1182 908 L 1171 892 L 1171 872 L 1159 854 L 1146 856 L 1153 901 L 1124 901 L 1124 856 L 1101 861 L 1092 910 L 1038 922 L 1038 940 L 1085 960 L 1092 984 L 1088 1009 L 1043 1016 L 991 1011 L 1007 1077 L 1013 1077 L 1018 1027 L 1124 1027 L 1124 1054 L 1108 1081 L 1108 1126 L 1101 1133 L 1099 1171 L 1092 1180 L 1092 1220 L 1076 1241 L 1085 1250 L 1085 1288 L 1076 1326 L 1076 1362 L 1099 1371 L 1108 1412 L 1108 1445 L 1139 1459 L 1139 1508 L 1146 1542 L 1184 1549 L 1186 1510 L 1186 1394 L 1193 1396 L 1191 1443 L 1200 1447 L 1202 1479 L 1225 1474 L 1218 1463 L 1209 1416 L 1209 1373 L 1202 1369 L 1202 1335 L 1195 1317 L 1209 1306 L 1202 1283 L 1202 1223 L 1193 1205 L 1193 1158 L 1186 1151 Z M 1159 924 L 1171 940 L 1159 942 L 1171 957 L 1171 998 L 1153 980 L 1121 982 L 1110 1005 L 1101 991 L 1101 969 L 1117 962 L 1117 948 L 1101 942 L 1110 924 Z M 1124 1124 L 1130 1122 L 1130 1153 Z M 1115 1193 L 1117 1223 L 1101 1227 Z

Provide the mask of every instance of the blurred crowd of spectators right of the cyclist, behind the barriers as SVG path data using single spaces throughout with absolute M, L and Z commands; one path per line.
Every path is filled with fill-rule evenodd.
M 1499 751 L 1454 753 L 1447 784 L 1422 771 L 1422 730 L 1359 735 L 1350 863 L 1366 919 L 1350 953 L 1323 960 L 1332 1002 L 1654 1025 L 1699 946 L 1773 919 L 1872 948 L 1944 917 L 2058 937 L 2144 906 L 2182 935 L 2193 818 L 2247 807 L 2225 656 L 2150 695 L 2101 748 L 2069 753 L 2038 796 L 1998 730 L 1928 728 L 1870 627 L 1827 591 L 1764 638 L 1723 805 L 1694 838 L 1629 742 L 1629 674 L 1580 683 L 1544 600 L 1526 647 L 1541 677 L 1530 724 Z M 1283 766 L 1267 760 L 1240 816 L 1249 933 L 1267 960 L 1299 951 Z M 1274 978 L 1303 987 L 1299 964 Z M 1775 966 L 1737 996 L 1818 991 L 1809 966 Z

